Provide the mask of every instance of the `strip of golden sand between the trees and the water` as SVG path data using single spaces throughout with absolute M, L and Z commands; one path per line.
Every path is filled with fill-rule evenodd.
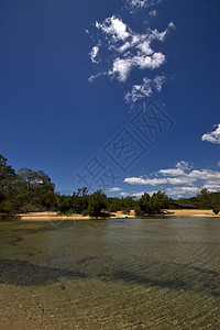
M 210 218 L 219 218 L 220 215 L 215 215 L 212 210 L 191 210 L 191 209 L 174 209 L 174 210 L 165 210 L 164 215 L 156 215 L 158 217 L 210 217 Z M 94 219 L 105 219 L 103 217 L 90 217 L 73 213 L 70 216 L 59 216 L 57 212 L 30 212 L 20 215 L 21 221 L 64 221 L 64 220 L 94 220 Z M 155 215 L 148 216 L 155 217 Z M 123 213 L 123 211 L 111 212 L 108 219 L 129 219 L 129 218 L 139 218 L 135 216 L 134 210 L 131 210 L 128 215 Z

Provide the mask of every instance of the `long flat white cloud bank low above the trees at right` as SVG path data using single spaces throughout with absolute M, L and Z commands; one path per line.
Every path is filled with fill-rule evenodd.
M 220 191 L 220 172 L 195 169 L 188 162 L 178 162 L 174 168 L 163 168 L 154 174 L 140 177 L 127 177 L 124 183 L 138 186 L 158 186 L 172 196 L 195 195 L 202 188 Z M 160 187 L 161 186 L 161 187 Z

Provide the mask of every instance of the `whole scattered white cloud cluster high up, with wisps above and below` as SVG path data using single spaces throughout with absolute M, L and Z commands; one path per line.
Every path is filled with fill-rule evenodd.
M 145 9 L 146 14 L 148 13 L 153 18 L 157 15 L 155 6 L 160 2 L 162 0 L 125 0 L 123 9 L 129 10 L 132 15 L 138 14 L 139 9 Z M 124 19 L 113 14 L 103 21 L 96 21 L 94 24 L 95 34 L 86 30 L 92 42 L 98 40 L 91 48 L 89 57 L 96 65 L 100 61 L 102 63 L 100 72 L 89 78 L 90 82 L 98 77 L 106 76 L 111 80 L 116 79 L 124 84 L 132 72 L 143 72 L 142 82 L 139 76 L 139 80 L 130 85 L 130 91 L 124 94 L 124 100 L 130 107 L 133 107 L 134 102 L 140 99 L 152 97 L 154 92 L 162 91 L 166 77 L 160 75 L 158 69 L 166 63 L 166 56 L 161 50 L 155 50 L 153 45 L 157 46 L 155 41 L 164 42 L 170 30 L 175 29 L 173 22 L 169 22 L 163 31 L 146 29 L 146 22 L 143 23 L 144 30 L 142 33 L 136 32 L 128 25 Z M 153 76 L 154 70 L 157 70 L 157 73 Z

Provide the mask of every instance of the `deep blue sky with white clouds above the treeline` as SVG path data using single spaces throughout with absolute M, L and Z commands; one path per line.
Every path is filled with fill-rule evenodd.
M 15 169 L 65 194 L 220 190 L 219 0 L 11 0 L 0 22 L 0 153 Z

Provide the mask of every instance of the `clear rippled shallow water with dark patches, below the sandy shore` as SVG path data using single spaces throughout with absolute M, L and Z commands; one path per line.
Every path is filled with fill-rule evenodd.
M 2 222 L 0 329 L 220 329 L 220 220 Z

